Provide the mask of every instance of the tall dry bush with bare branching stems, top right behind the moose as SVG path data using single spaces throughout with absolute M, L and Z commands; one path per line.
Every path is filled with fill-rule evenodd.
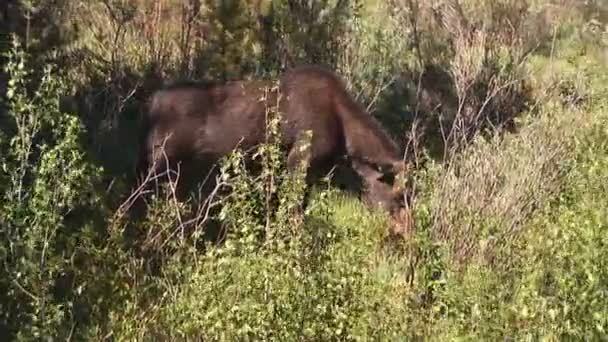
M 418 59 L 415 117 L 442 137 L 442 159 L 479 132 L 514 130 L 531 99 L 525 63 L 552 34 L 546 8 L 511 0 L 393 5 Z

